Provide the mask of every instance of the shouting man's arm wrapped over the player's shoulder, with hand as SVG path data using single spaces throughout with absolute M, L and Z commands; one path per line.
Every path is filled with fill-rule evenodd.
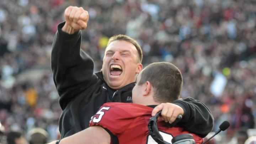
M 183 109 L 183 114 L 180 108 Z M 208 107 L 191 97 L 172 103 L 162 103 L 154 108 L 152 116 L 160 110 L 165 110 L 161 113 L 164 117 L 162 120 L 170 123 L 177 118 L 178 114 L 182 114 L 179 126 L 201 137 L 205 137 L 213 129 L 214 118 Z

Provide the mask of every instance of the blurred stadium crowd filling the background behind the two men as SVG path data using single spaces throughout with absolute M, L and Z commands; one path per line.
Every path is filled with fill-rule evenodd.
M 101 69 L 108 38 L 127 34 L 142 46 L 144 66 L 167 61 L 181 70 L 181 97 L 204 102 L 213 113 L 214 130 L 222 121 L 230 122 L 215 143 L 244 143 L 256 135 L 255 0 L 1 0 L 4 133 L 27 135 L 39 127 L 48 140 L 58 138 L 62 110 L 50 52 L 69 5 L 89 12 L 81 47 L 95 60 L 95 71 Z

